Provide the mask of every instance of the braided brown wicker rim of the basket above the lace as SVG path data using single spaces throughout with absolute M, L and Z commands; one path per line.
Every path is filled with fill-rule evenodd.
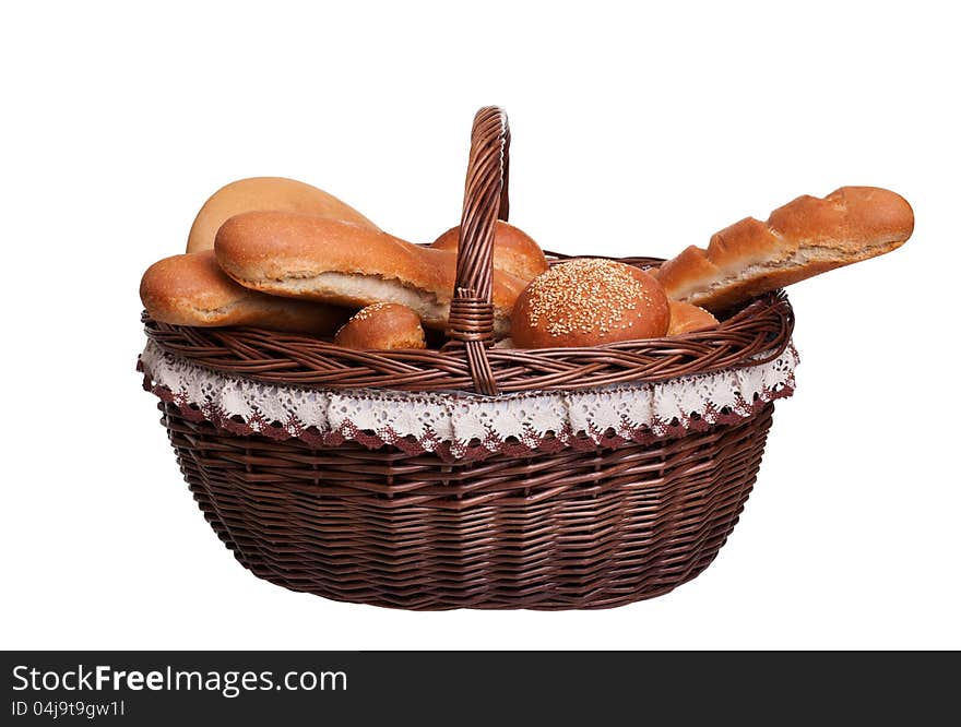
M 657 262 L 643 259 L 645 263 Z M 624 262 L 632 262 L 625 259 Z M 473 391 L 459 348 L 358 351 L 257 329 L 193 329 L 145 319 L 147 336 L 193 364 L 273 384 L 324 389 Z M 756 300 L 711 331 L 598 348 L 495 348 L 487 360 L 502 393 L 666 381 L 756 366 L 783 353 L 794 314 L 783 293 Z

